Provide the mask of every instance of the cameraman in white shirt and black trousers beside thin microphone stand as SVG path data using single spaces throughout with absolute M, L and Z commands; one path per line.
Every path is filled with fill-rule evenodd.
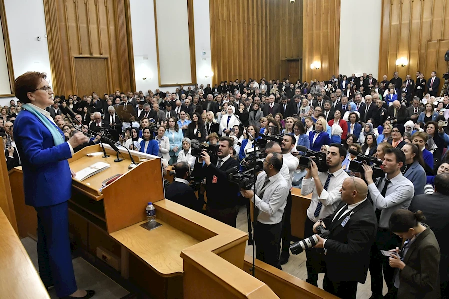
M 252 190 L 241 189 L 242 196 L 251 199 L 258 208 L 257 224 L 254 227 L 256 258 L 282 269 L 279 264 L 282 215 L 286 205 L 289 187 L 279 171 L 282 156 L 270 153 L 263 162 L 263 172 L 256 180 L 256 194 Z

